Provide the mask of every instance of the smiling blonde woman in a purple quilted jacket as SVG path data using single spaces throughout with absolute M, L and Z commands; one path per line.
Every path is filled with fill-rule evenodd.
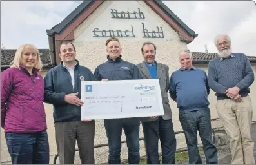
M 12 164 L 49 164 L 42 66 L 37 48 L 23 44 L 1 73 L 1 127 Z

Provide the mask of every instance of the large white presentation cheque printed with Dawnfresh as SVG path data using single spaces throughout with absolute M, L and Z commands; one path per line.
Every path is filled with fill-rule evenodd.
M 158 79 L 81 81 L 81 119 L 164 115 Z

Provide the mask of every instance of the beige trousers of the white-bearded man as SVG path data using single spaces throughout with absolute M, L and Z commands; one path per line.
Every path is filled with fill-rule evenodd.
M 218 100 L 216 109 L 230 141 L 231 164 L 255 164 L 251 139 L 253 109 L 249 96 L 242 102 Z

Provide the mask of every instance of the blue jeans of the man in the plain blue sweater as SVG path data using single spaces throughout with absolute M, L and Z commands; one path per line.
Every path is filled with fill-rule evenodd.
M 217 148 L 212 141 L 212 126 L 210 110 L 195 110 L 179 112 L 179 120 L 184 130 L 190 164 L 202 164 L 197 147 L 197 130 L 204 146 L 206 164 L 218 164 Z

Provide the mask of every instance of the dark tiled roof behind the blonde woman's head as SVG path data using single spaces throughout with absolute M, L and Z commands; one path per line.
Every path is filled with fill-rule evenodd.
M 15 49 L 1 49 L 1 67 L 9 66 L 14 59 L 15 53 Z M 48 49 L 39 49 L 39 55 L 44 66 L 52 64 Z

